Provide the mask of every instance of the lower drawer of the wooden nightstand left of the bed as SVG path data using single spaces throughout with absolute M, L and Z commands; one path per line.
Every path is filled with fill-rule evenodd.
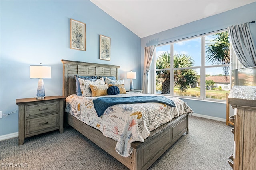
M 58 127 L 58 114 L 27 119 L 26 135 L 48 128 Z

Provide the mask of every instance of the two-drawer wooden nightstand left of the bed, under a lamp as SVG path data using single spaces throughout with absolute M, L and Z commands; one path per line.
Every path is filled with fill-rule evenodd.
M 26 137 L 59 129 L 63 133 L 63 96 L 16 99 L 19 106 L 19 145 Z

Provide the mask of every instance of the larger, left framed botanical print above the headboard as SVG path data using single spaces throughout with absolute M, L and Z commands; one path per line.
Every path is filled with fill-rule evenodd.
M 70 48 L 86 51 L 86 24 L 70 19 Z

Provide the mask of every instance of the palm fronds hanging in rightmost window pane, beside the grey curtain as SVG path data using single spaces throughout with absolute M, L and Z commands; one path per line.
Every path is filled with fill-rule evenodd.
M 230 63 L 230 42 L 228 31 L 216 33 L 213 36 L 216 38 L 206 47 L 206 61 L 212 64 L 229 64 Z M 223 73 L 228 78 L 229 68 L 222 67 Z

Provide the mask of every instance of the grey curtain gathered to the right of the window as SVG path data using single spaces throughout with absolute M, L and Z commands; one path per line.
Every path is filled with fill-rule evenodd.
M 228 34 L 237 59 L 245 66 L 256 66 L 255 45 L 250 32 L 250 23 L 228 27 Z

